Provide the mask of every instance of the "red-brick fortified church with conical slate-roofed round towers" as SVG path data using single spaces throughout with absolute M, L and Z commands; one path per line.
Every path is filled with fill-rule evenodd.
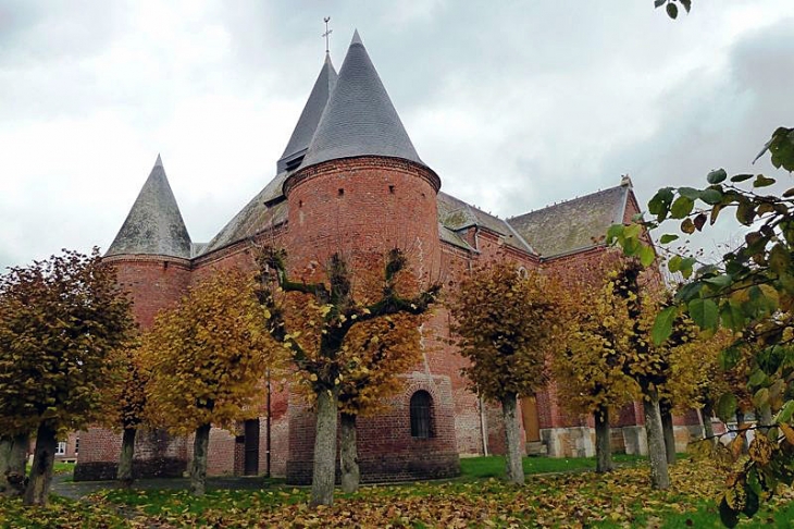
M 474 266 L 509 259 L 524 269 L 576 273 L 606 250 L 609 225 L 640 211 L 631 182 L 503 220 L 441 190 L 442 176 L 417 153 L 358 32 L 337 74 L 326 56 L 274 177 L 209 243 L 190 239 L 158 157 L 104 261 L 132 293 L 141 328 L 172 307 L 207 274 L 253 269 L 255 246 L 287 250 L 289 272 L 319 278 L 324 259 L 340 249 L 356 256 L 400 246 L 420 281 L 439 271 L 460 276 Z M 424 360 L 405 373 L 402 394 L 387 411 L 358 421 L 363 481 L 455 476 L 459 457 L 500 453 L 500 410 L 467 389 L 466 360 L 450 346 L 449 316 L 437 308 L 423 327 Z M 209 472 L 311 479 L 314 418 L 288 384 L 273 383 L 260 418 L 235 432 L 214 429 Z M 585 418 L 568 417 L 555 384 L 521 402 L 528 452 L 555 457 L 593 455 Z M 688 417 L 693 423 L 692 417 Z M 642 406 L 613 422 L 616 451 L 646 448 Z M 679 433 L 685 439 L 685 421 Z M 696 422 L 694 422 L 696 423 Z M 178 476 L 193 443 L 142 432 L 138 476 Z M 121 436 L 80 432 L 75 479 L 112 479 Z

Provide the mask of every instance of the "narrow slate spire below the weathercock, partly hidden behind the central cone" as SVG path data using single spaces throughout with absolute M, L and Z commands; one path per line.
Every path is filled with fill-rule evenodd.
M 331 63 L 331 56 L 326 53 L 323 67 L 320 70 L 320 75 L 314 82 L 309 100 L 306 101 L 306 107 L 300 113 L 298 124 L 295 125 L 287 148 L 284 149 L 284 153 L 276 163 L 276 173 L 286 170 L 287 165 L 291 165 L 290 162 L 306 153 L 314 131 L 317 131 L 318 123 L 320 123 L 320 118 L 323 115 L 323 110 L 325 110 L 325 103 L 328 102 L 328 97 L 334 90 L 334 85 L 336 85 L 336 70 Z

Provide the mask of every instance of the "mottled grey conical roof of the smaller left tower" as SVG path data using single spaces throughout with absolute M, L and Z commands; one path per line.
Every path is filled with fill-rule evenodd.
M 106 256 L 157 255 L 190 258 L 190 236 L 160 159 Z

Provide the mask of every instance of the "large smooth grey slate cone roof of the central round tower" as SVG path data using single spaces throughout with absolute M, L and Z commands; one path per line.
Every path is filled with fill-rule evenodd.
M 357 30 L 300 167 L 367 155 L 424 165 Z

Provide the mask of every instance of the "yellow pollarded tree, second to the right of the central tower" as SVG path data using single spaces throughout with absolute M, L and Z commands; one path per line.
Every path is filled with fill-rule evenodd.
M 596 433 L 596 471 L 613 469 L 609 418 L 638 393 L 636 382 L 624 372 L 631 347 L 633 322 L 629 300 L 618 296 L 613 278 L 599 287 L 583 287 L 568 297 L 563 340 L 553 366 L 559 396 L 572 413 L 592 414 Z

